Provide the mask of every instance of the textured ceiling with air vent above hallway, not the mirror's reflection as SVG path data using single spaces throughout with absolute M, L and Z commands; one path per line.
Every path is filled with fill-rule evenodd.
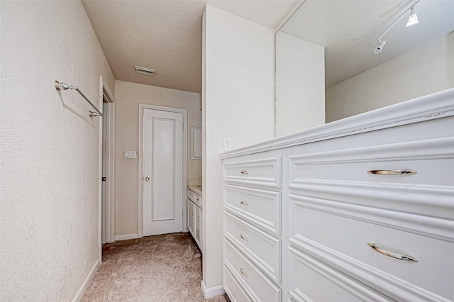
M 206 4 L 277 28 L 298 0 L 82 0 L 114 77 L 201 91 L 201 30 Z M 155 69 L 149 76 L 134 66 Z

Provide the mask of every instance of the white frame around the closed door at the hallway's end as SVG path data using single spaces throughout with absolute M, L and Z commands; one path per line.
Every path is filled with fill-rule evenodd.
M 145 109 L 152 109 L 157 111 L 169 111 L 183 114 L 183 179 L 182 179 L 182 205 L 183 205 L 183 219 L 182 230 L 186 230 L 187 224 L 187 109 L 156 106 L 148 104 L 139 104 L 139 150 L 138 150 L 138 237 L 143 237 L 143 112 Z

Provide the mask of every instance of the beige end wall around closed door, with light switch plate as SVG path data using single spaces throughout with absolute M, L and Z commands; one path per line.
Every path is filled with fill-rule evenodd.
M 116 81 L 115 99 L 115 235 L 118 240 L 138 235 L 139 104 L 187 109 L 188 148 L 191 127 L 201 127 L 201 111 L 197 93 L 131 82 Z M 124 158 L 127 150 L 137 151 L 138 157 Z M 190 150 L 187 179 L 201 180 L 201 161 L 191 160 Z

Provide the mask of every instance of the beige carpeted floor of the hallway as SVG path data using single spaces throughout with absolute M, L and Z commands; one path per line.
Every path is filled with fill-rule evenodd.
M 109 243 L 82 301 L 205 300 L 200 288 L 201 254 L 189 233 Z

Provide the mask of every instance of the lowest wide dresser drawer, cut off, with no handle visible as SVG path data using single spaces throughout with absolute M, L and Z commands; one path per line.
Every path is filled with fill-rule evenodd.
M 393 301 L 292 247 L 289 273 L 290 301 Z

